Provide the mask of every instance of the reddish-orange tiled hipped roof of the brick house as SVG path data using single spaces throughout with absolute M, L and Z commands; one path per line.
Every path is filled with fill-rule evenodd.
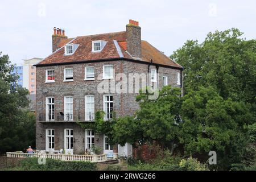
M 105 40 L 106 45 L 100 52 L 92 52 L 93 40 Z M 118 44 L 114 43 L 114 40 Z M 67 43 L 79 44 L 73 55 L 64 55 L 64 46 Z M 119 47 L 117 47 L 119 46 Z M 142 61 L 162 64 L 177 68 L 182 68 L 179 64 L 172 61 L 148 42 L 142 40 Z M 119 51 L 119 53 L 118 53 Z M 122 53 L 120 53 L 120 51 Z M 75 39 L 65 39 L 59 44 L 59 49 L 53 52 L 46 59 L 40 61 L 37 65 L 59 64 L 59 63 L 75 63 L 80 61 L 118 59 L 123 56 L 126 59 L 133 59 L 126 51 L 126 31 L 113 32 L 108 34 L 97 34 L 88 36 L 78 36 Z

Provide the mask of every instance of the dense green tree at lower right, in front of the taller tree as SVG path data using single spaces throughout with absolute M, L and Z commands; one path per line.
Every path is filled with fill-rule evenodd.
M 207 159 L 209 151 L 216 151 L 218 167 L 224 169 L 241 162 L 248 144 L 246 126 L 253 121 L 250 105 L 224 100 L 212 87 L 200 87 L 183 99 L 180 142 L 185 154 Z

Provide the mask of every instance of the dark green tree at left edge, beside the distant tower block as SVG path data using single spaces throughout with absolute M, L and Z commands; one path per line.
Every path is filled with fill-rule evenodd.
M 35 146 L 35 116 L 27 111 L 27 89 L 16 84 L 14 65 L 0 52 L 0 154 Z

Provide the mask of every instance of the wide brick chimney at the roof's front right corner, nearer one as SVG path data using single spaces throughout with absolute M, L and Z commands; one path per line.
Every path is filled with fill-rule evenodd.
M 126 25 L 127 52 L 131 56 L 141 59 L 141 27 L 139 22 L 129 20 Z

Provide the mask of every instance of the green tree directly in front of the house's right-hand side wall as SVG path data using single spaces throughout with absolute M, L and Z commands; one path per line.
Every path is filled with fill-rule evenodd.
M 121 117 L 113 126 L 114 141 L 120 144 L 157 142 L 162 147 L 175 149 L 179 135 L 180 89 L 164 86 L 157 100 L 148 100 L 141 93 L 137 102 L 141 109 L 134 117 Z

